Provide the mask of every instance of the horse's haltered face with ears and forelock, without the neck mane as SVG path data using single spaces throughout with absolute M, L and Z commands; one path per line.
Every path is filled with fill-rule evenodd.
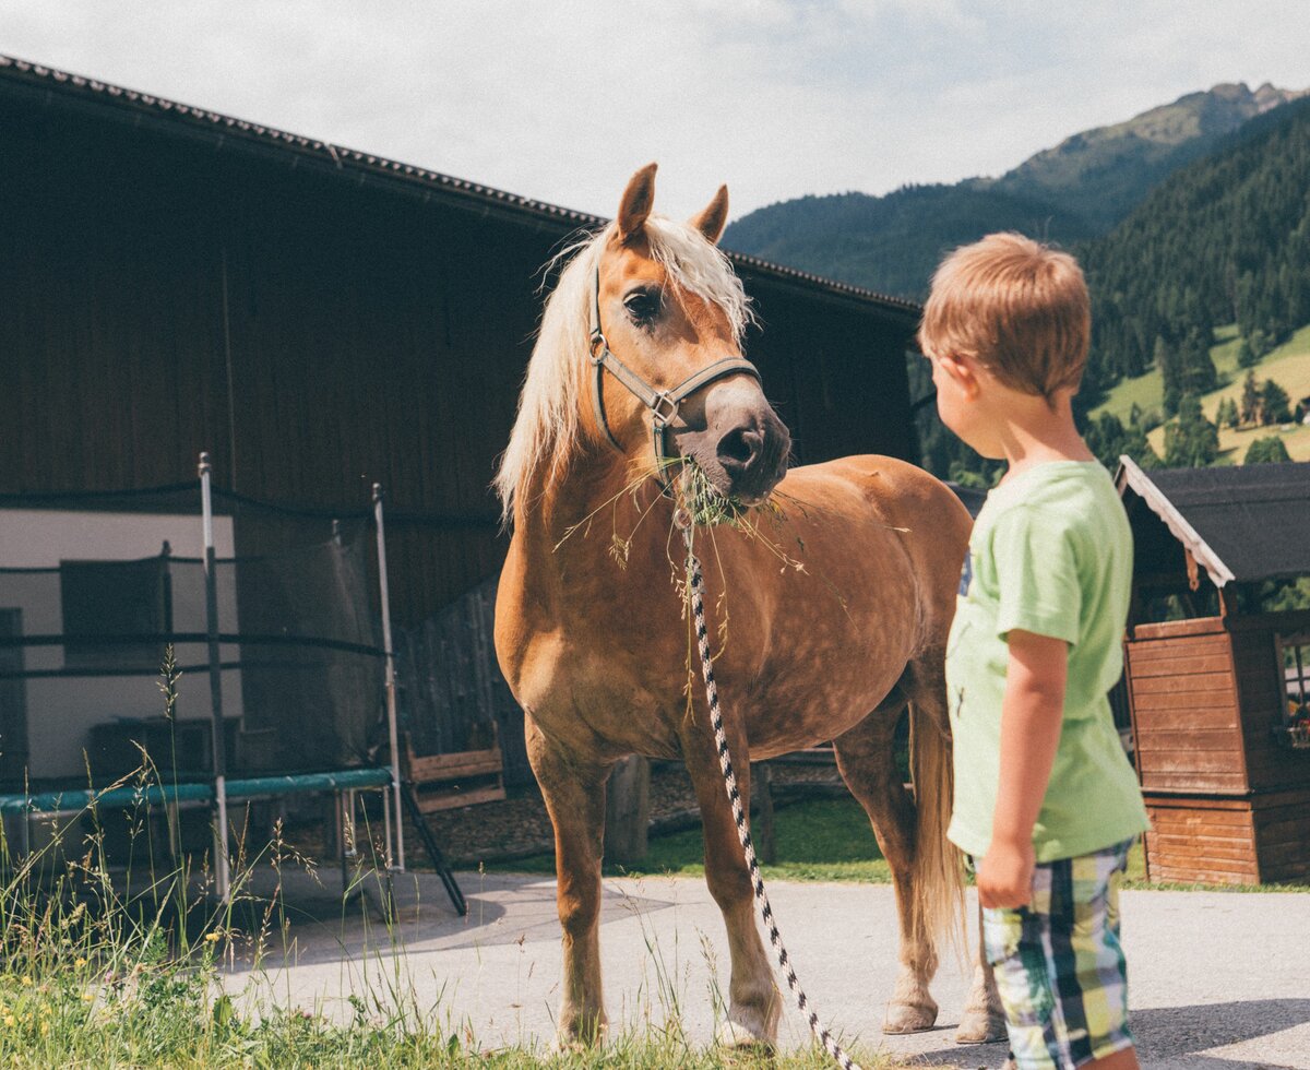
M 715 248 L 727 187 L 686 224 L 652 216 L 654 193 L 651 164 L 627 183 L 597 250 L 592 356 L 608 348 L 621 367 L 595 378 L 601 403 L 587 405 L 586 419 L 629 456 L 645 451 L 655 464 L 652 430 L 667 423 L 665 454 L 694 460 L 720 494 L 755 504 L 786 473 L 791 439 L 741 356 L 749 309 Z M 641 380 L 635 389 L 625 369 Z

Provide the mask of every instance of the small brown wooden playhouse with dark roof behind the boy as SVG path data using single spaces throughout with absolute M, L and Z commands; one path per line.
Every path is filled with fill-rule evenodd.
M 1310 877 L 1310 464 L 1117 475 L 1136 541 L 1127 680 L 1153 880 Z

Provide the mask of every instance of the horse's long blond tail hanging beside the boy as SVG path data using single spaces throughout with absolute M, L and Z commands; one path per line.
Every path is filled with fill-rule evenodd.
M 945 701 L 946 695 L 942 695 Z M 922 702 L 910 705 L 909 754 L 914 782 L 914 943 L 929 947 L 938 936 L 964 948 L 964 872 L 959 850 L 946 838 L 951 819 L 954 771 L 951 737 L 943 718 Z M 945 715 L 945 710 L 941 711 Z

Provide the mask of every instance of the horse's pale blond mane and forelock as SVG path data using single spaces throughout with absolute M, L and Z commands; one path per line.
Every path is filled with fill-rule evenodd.
M 579 439 L 578 413 L 591 389 L 588 334 L 591 331 L 591 283 L 605 241 L 614 224 L 563 249 L 548 265 L 563 263 L 559 282 L 546 300 L 537 330 L 537 343 L 528 360 L 519 418 L 510 445 L 500 460 L 493 486 L 500 498 L 503 519 L 514 515 L 528 481 L 542 465 L 549 466 L 546 485 L 561 477 Z M 753 321 L 749 299 L 728 258 L 694 227 L 664 216 L 646 220 L 651 258 L 668 272 L 676 292 L 686 291 L 718 305 L 728 317 L 740 343 Z

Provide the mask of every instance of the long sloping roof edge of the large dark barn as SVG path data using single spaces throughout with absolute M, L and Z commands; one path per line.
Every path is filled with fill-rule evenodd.
M 0 85 L 35 90 L 35 98 L 43 102 L 51 100 L 48 94 L 58 93 L 60 101 L 75 106 L 77 103 L 90 106 L 106 118 L 126 119 L 134 126 L 143 122 L 155 123 L 168 134 L 199 138 L 216 149 L 234 147 L 255 152 L 271 151 L 291 157 L 296 166 L 308 165 L 337 173 L 356 183 L 364 179 L 381 179 L 392 187 L 409 186 L 424 198 L 440 196 L 447 203 L 468 207 L 483 215 L 507 213 L 519 223 L 558 228 L 562 234 L 603 227 L 609 221 L 603 216 L 562 208 L 558 204 L 519 196 L 427 168 L 334 145 L 300 134 L 288 134 L 262 123 L 237 119 L 3 54 L 0 54 Z M 728 257 L 738 268 L 744 268 L 751 275 L 872 305 L 896 320 L 904 320 L 907 325 L 916 323 L 922 310 L 913 301 L 783 267 L 744 253 L 728 251 Z

